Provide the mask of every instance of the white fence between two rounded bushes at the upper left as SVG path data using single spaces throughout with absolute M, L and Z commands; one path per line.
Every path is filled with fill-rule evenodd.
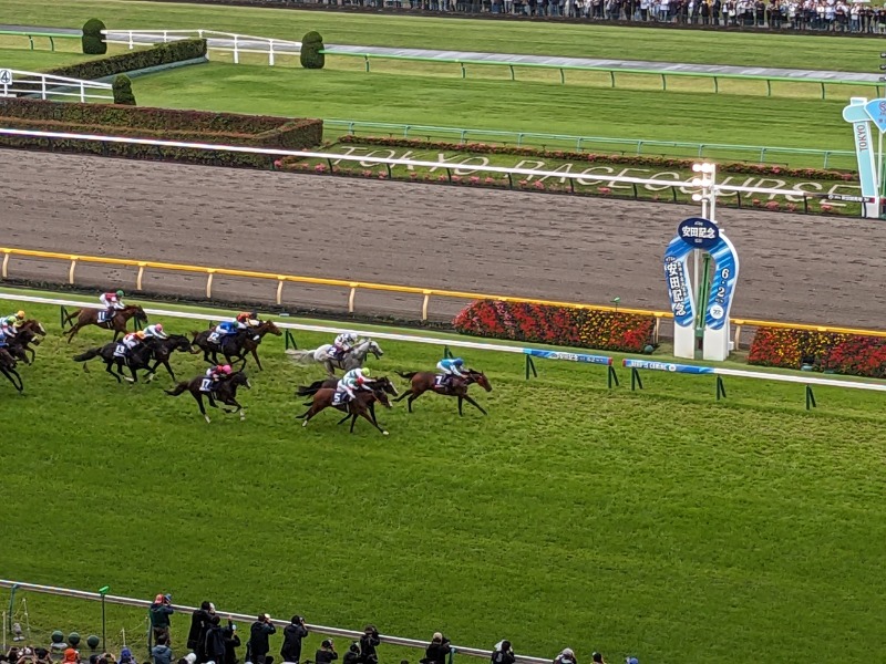
M 234 53 L 235 64 L 239 64 L 240 53 L 261 53 L 274 66 L 276 55 L 298 55 L 301 52 L 301 42 L 218 30 L 103 30 L 102 33 L 109 44 L 124 44 L 130 50 L 184 39 L 205 39 L 208 51 Z

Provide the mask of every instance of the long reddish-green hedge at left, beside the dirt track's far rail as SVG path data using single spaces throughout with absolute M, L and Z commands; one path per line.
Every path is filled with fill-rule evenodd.
M 19 129 L 105 134 L 190 143 L 303 149 L 322 142 L 321 120 L 140 108 L 105 104 L 0 100 L 0 125 Z M 276 157 L 144 145 L 0 136 L 0 147 L 48 149 L 141 159 L 270 168 Z

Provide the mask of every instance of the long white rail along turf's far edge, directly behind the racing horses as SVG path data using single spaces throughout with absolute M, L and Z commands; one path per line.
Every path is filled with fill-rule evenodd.
M 2 291 L 0 291 L 0 300 L 11 300 L 13 302 L 31 302 L 33 304 L 55 304 L 59 307 L 72 307 L 72 308 L 76 307 L 81 309 L 82 308 L 102 309 L 101 304 L 96 304 L 94 302 L 78 302 L 75 300 L 64 300 L 61 298 L 41 298 L 38 295 L 20 295 L 18 293 L 6 293 Z M 206 313 L 195 313 L 189 311 L 187 312 L 172 311 L 167 309 L 144 309 L 144 312 L 150 315 L 159 315 L 166 318 L 178 318 L 178 319 L 209 321 L 209 322 L 222 321 L 225 320 L 226 318 L 224 314 L 209 315 Z M 228 314 L 228 318 L 233 320 L 233 314 Z M 353 326 L 330 328 L 327 325 L 284 323 L 280 322 L 279 320 L 275 321 L 275 324 L 282 330 L 300 330 L 302 332 L 323 332 L 327 334 L 340 334 L 342 332 L 350 331 L 361 336 L 370 336 L 372 339 L 388 339 L 391 341 L 405 341 L 409 343 L 426 343 L 432 345 L 450 346 L 454 349 L 472 349 L 476 351 L 517 353 L 521 355 L 533 355 L 538 357 L 548 357 L 553 360 L 567 360 L 573 362 L 588 362 L 587 357 L 590 357 L 589 355 L 580 353 L 546 351 L 543 349 L 522 347 L 516 345 L 511 346 L 496 343 L 483 343 L 477 341 L 464 341 L 461 339 L 437 339 L 433 336 L 421 336 L 419 334 L 396 334 L 394 332 L 379 332 L 375 330 L 361 331 L 359 329 L 356 330 Z M 596 361 L 590 362 L 591 364 L 606 364 L 606 362 L 601 362 L 601 360 L 609 359 L 608 356 L 605 355 L 597 355 L 595 357 Z M 652 369 L 667 372 L 686 373 L 686 372 L 679 372 L 677 369 L 674 369 L 681 365 L 677 365 L 673 362 L 650 361 L 649 357 L 626 359 L 622 361 L 622 364 L 627 369 Z M 852 390 L 886 392 L 886 382 L 866 383 L 864 381 L 854 378 L 836 378 L 836 377 L 824 378 L 811 375 L 795 375 L 795 374 L 763 372 L 763 371 L 744 371 L 739 369 L 720 369 L 720 367 L 702 367 L 702 366 L 692 366 L 692 369 L 699 370 L 692 372 L 699 375 L 720 374 L 720 375 L 735 376 L 741 378 L 754 378 L 759 381 L 780 381 L 787 383 L 801 383 L 804 385 L 821 385 L 825 387 L 848 387 Z

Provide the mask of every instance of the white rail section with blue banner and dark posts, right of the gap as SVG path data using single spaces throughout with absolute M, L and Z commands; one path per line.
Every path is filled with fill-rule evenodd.
M 804 394 L 806 401 L 806 409 L 817 407 L 815 394 L 812 391 L 813 385 L 826 385 L 828 387 L 848 387 L 851 390 L 870 390 L 875 392 L 886 392 L 886 383 L 864 383 L 856 381 L 846 381 L 839 378 L 820 378 L 816 376 L 796 376 L 779 373 L 766 373 L 762 371 L 744 371 L 739 369 L 722 369 L 719 366 L 701 366 L 696 364 L 677 364 L 674 362 L 661 362 L 652 360 L 635 360 L 625 359 L 621 361 L 625 369 L 630 370 L 630 388 L 643 388 L 643 382 L 640 377 L 640 370 L 648 371 L 664 371 L 668 373 L 692 374 L 692 375 L 712 375 L 717 377 L 717 401 L 725 398 L 727 391 L 723 384 L 722 376 L 738 376 L 742 378 L 756 378 L 761 381 L 780 381 L 785 383 L 800 383 L 804 386 Z

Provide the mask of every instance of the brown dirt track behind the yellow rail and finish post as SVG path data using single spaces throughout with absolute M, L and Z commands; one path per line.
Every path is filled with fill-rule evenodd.
M 427 288 L 667 309 L 661 257 L 697 208 L 599 198 L 0 151 L 1 246 Z M 739 250 L 733 315 L 886 328 L 886 222 L 723 209 Z M 11 277 L 66 264 L 14 259 Z M 79 280 L 132 288 L 128 271 Z M 199 294 L 205 278 L 152 276 Z M 274 283 L 217 293 L 272 298 Z M 347 292 L 286 287 L 338 309 Z M 360 291 L 358 309 L 418 313 L 416 297 Z M 436 315 L 463 302 L 432 300 Z

